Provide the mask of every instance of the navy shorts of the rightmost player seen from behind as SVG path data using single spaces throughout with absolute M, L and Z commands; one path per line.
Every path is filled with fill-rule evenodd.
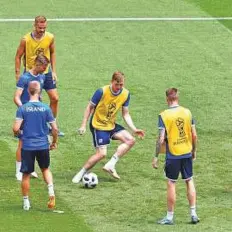
M 192 157 L 183 159 L 167 159 L 164 167 L 166 177 L 176 181 L 179 173 L 183 180 L 188 180 L 193 176 Z

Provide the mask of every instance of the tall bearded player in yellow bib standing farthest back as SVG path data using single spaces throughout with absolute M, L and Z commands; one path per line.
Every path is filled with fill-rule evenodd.
M 37 55 L 45 55 L 51 62 L 51 65 L 46 68 L 44 89 L 46 90 L 49 99 L 50 107 L 54 117 L 58 113 L 58 92 L 56 89 L 56 54 L 54 35 L 46 31 L 47 19 L 45 16 L 37 16 L 34 21 L 34 30 L 23 36 L 15 56 L 15 77 L 18 81 L 20 77 L 21 59 L 23 57 L 25 71 L 32 69 L 34 60 Z M 64 136 L 64 133 L 59 131 L 59 136 Z

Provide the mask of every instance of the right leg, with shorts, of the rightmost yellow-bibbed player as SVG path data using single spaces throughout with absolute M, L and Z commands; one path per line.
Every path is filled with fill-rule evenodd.
M 196 189 L 193 181 L 192 158 L 182 159 L 181 161 L 182 161 L 181 175 L 182 175 L 182 179 L 184 179 L 186 183 L 191 222 L 193 224 L 196 224 L 200 220 L 196 213 Z

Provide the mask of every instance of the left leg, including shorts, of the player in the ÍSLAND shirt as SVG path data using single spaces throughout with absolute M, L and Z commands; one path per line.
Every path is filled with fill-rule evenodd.
M 21 150 L 22 165 L 20 171 L 23 173 L 21 189 L 23 195 L 23 209 L 29 210 L 30 174 L 34 171 L 35 151 Z

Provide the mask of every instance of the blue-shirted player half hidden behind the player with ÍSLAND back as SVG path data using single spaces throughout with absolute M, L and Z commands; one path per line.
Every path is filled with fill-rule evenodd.
M 49 60 L 44 55 L 38 55 L 34 60 L 34 67 L 25 72 L 17 82 L 17 89 L 15 91 L 14 102 L 20 107 L 23 104 L 27 103 L 30 100 L 28 93 L 28 85 L 31 81 L 38 81 L 40 83 L 41 89 L 44 86 L 45 75 L 43 74 L 44 70 L 47 69 Z M 21 135 L 18 136 L 19 143 L 16 150 L 16 178 L 17 180 L 22 180 L 22 173 L 20 172 L 21 168 L 21 149 L 22 149 L 22 140 Z M 32 173 L 32 176 L 38 177 L 35 172 Z

